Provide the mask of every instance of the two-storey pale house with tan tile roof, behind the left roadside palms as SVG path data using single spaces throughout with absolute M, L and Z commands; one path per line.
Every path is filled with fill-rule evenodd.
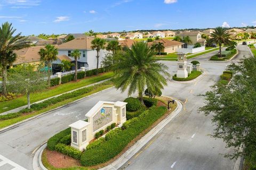
M 78 68 L 85 66 L 85 67 L 88 67 L 89 70 L 96 69 L 97 51 L 91 48 L 92 46 L 91 42 L 93 39 L 94 39 L 93 37 L 89 37 L 89 36 L 75 38 L 71 41 L 68 41 L 67 43 L 59 45 L 58 53 L 60 56 L 66 55 L 73 62 L 75 58 L 71 57 L 71 53 L 73 52 L 73 50 L 78 49 L 79 52 L 81 53 L 81 56 L 78 59 Z M 106 49 L 100 50 L 99 64 L 101 63 L 102 58 L 105 57 L 106 53 L 107 53 Z M 58 61 L 54 61 L 53 64 L 58 64 Z

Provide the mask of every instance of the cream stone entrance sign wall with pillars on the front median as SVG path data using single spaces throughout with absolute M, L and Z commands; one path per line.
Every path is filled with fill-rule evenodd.
M 95 133 L 106 130 L 112 123 L 123 124 L 126 122 L 126 104 L 122 101 L 99 101 L 85 114 L 87 122 L 79 120 L 70 124 L 71 147 L 80 151 L 86 149 L 89 142 L 94 139 Z

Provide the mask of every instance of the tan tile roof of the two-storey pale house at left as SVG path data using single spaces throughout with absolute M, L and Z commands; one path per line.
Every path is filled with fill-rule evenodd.
M 92 49 L 92 40 L 94 38 L 85 36 L 80 38 L 75 38 L 67 43 L 58 46 L 58 49 Z

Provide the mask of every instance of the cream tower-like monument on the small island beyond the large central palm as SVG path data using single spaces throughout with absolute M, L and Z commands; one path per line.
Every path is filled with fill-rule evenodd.
M 187 78 L 187 56 L 185 53 L 178 53 L 178 71 L 177 78 Z

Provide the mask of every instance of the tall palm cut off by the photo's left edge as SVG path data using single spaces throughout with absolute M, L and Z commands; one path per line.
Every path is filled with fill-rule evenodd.
M 7 65 L 11 65 L 17 58 L 13 53 L 14 50 L 19 50 L 30 46 L 30 41 L 27 38 L 21 37 L 21 32 L 14 36 L 16 29 L 13 29 L 12 24 L 5 22 L 0 27 L 0 63 L 2 69 L 2 93 L 7 94 Z

